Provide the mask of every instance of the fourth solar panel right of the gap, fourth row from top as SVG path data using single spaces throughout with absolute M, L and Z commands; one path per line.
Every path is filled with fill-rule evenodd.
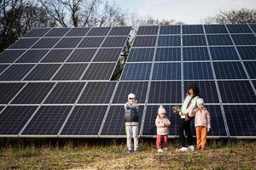
M 217 79 L 247 79 L 241 62 L 214 62 Z

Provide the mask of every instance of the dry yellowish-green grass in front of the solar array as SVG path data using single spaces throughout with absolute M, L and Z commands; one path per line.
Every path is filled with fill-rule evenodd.
M 256 141 L 223 143 L 213 140 L 207 150 L 177 152 L 178 144 L 158 153 L 154 140 L 143 141 L 140 152 L 125 154 L 125 142 L 111 144 L 2 144 L 0 169 L 255 169 Z

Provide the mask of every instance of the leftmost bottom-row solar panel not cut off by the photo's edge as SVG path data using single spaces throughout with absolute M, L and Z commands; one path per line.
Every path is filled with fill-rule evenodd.
M 21 135 L 57 135 L 71 105 L 43 105 Z

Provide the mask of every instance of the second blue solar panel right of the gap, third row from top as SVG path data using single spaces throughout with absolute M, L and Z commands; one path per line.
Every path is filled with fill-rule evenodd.
M 181 48 L 156 48 L 155 61 L 181 61 Z

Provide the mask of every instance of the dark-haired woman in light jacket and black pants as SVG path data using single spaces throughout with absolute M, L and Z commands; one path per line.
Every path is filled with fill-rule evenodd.
M 196 100 L 199 98 L 199 89 L 196 84 L 189 84 L 188 88 L 188 95 L 183 101 L 183 105 L 178 112 L 179 115 L 181 116 L 179 127 L 178 127 L 178 134 L 179 134 L 179 139 L 180 143 L 182 144 L 182 148 L 180 148 L 180 151 L 188 151 L 188 150 L 194 150 L 193 146 L 193 137 L 190 129 L 190 122 L 192 120 L 192 117 L 189 117 L 189 111 L 191 109 L 196 108 Z M 187 135 L 187 144 L 189 147 L 186 147 L 185 143 L 185 136 L 184 136 L 184 131 Z

